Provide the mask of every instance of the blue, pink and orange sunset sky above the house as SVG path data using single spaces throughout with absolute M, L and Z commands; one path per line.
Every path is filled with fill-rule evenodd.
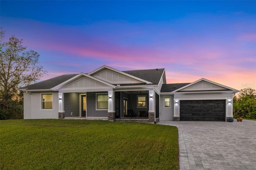
M 1 0 L 0 26 L 40 54 L 38 81 L 107 65 L 256 89 L 256 1 Z

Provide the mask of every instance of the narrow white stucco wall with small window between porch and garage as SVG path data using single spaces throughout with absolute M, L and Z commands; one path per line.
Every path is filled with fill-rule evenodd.
M 164 107 L 164 97 L 170 97 L 170 107 Z M 173 121 L 173 95 L 160 95 L 160 121 Z

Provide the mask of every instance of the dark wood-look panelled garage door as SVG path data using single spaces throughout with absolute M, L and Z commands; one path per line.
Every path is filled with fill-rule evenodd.
M 180 121 L 225 121 L 226 100 L 180 101 Z

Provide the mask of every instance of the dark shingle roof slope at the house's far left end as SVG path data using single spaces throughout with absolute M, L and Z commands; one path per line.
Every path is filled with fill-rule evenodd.
M 50 89 L 52 87 L 55 87 L 56 85 L 59 85 L 60 83 L 63 83 L 64 81 L 76 76 L 76 75 L 78 75 L 78 74 L 60 75 L 60 76 L 54 77 L 52 79 L 40 81 L 38 83 L 28 85 L 25 87 L 20 87 L 19 89 L 28 89 L 28 90 Z

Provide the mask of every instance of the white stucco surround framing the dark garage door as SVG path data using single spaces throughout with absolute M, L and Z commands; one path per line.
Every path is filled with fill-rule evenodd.
M 232 95 L 233 93 L 176 94 L 173 99 L 174 117 L 180 117 L 181 100 L 226 100 L 226 117 L 233 117 Z

